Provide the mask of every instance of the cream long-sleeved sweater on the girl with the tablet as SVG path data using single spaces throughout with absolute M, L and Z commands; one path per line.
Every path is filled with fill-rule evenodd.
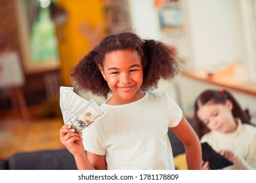
M 208 142 L 212 148 L 230 150 L 234 153 L 232 162 L 234 165 L 224 169 L 256 169 L 256 127 L 242 124 L 238 119 L 238 127 L 231 133 L 210 131 L 203 135 L 201 142 Z

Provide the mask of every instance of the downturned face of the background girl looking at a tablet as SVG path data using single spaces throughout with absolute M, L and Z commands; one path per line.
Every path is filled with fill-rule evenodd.
M 226 100 L 224 105 L 209 101 L 201 105 L 196 114 L 210 130 L 222 133 L 236 130 L 237 123 L 232 115 L 232 103 L 229 100 Z

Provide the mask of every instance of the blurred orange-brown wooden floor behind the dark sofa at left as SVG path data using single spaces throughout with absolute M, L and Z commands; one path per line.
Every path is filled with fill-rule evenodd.
M 29 121 L 12 111 L 0 112 L 0 159 L 19 152 L 62 148 L 58 135 L 62 125 L 61 117 L 35 118 L 31 110 Z

